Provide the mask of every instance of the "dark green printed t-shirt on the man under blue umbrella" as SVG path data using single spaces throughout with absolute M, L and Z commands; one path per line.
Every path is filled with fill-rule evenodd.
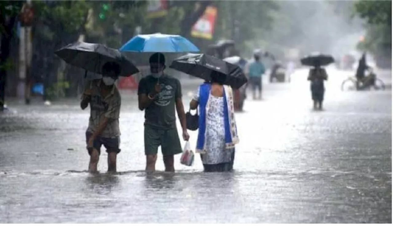
M 151 75 L 140 80 L 138 95 L 148 94 L 154 91 L 157 79 Z M 169 75 L 163 75 L 159 79 L 161 92 L 156 99 L 145 109 L 145 125 L 157 129 L 176 128 L 175 103 L 182 97 L 180 81 Z

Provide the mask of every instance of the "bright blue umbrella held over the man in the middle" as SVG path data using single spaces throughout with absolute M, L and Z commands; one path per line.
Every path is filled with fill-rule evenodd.
M 130 52 L 199 52 L 199 49 L 186 38 L 180 35 L 161 33 L 137 35 L 119 50 Z

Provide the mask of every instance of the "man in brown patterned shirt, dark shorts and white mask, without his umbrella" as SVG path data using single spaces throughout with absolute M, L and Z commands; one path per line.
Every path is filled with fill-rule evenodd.
M 120 66 L 115 62 L 107 62 L 102 72 L 102 79 L 86 84 L 81 101 L 82 110 L 90 104 L 89 126 L 86 130 L 89 172 L 97 172 L 102 145 L 108 153 L 108 172 L 116 172 L 116 157 L 120 152 L 121 97 L 114 83 L 118 79 Z

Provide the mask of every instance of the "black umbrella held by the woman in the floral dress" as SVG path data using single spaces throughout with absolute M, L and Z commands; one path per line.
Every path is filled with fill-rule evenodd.
M 210 81 L 212 71 L 221 73 L 226 76 L 224 84 L 235 89 L 240 88 L 247 82 L 243 70 L 234 64 L 205 54 L 187 54 L 175 59 L 169 68 L 187 73 L 194 77 Z

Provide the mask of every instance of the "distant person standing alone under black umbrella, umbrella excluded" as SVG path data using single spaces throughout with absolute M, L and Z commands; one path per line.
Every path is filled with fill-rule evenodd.
M 323 97 L 325 95 L 325 86 L 323 81 L 327 81 L 327 73 L 320 64 L 310 69 L 308 81 L 311 82 L 311 97 L 314 101 L 314 110 L 322 110 Z

